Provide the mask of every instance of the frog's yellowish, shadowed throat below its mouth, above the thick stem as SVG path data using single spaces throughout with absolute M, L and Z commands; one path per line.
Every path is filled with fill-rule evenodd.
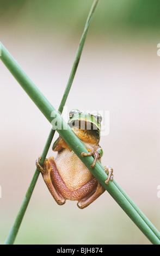
M 72 130 L 81 141 L 93 144 L 99 143 L 99 136 L 94 130 L 81 130 L 78 127 L 73 127 Z

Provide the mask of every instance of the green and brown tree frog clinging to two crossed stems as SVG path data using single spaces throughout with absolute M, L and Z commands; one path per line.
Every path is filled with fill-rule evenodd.
M 99 145 L 102 117 L 99 113 L 91 114 L 78 109 L 72 109 L 69 116 L 68 125 L 88 150 L 88 153 L 83 152 L 81 155 L 94 156 L 91 164 L 91 168 L 94 168 L 96 161 L 101 162 L 103 155 Z M 78 200 L 77 206 L 80 209 L 87 207 L 105 189 L 61 136 L 54 142 L 52 149 L 58 151 L 55 159 L 53 156 L 48 157 L 43 167 L 39 163 L 40 157 L 36 160 L 36 167 L 41 172 L 48 190 L 59 205 L 69 199 Z M 104 172 L 108 174 L 105 181 L 108 184 L 109 180 L 113 180 L 113 169 L 106 166 Z

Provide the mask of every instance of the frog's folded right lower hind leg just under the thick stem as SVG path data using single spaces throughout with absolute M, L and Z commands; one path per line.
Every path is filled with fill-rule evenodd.
M 105 191 L 104 187 L 100 184 L 100 182 L 97 183 L 96 189 L 90 193 L 88 196 L 82 198 L 78 201 L 77 206 L 80 209 L 83 209 L 87 207 L 89 204 L 93 203 L 94 200 L 96 200 L 101 194 Z

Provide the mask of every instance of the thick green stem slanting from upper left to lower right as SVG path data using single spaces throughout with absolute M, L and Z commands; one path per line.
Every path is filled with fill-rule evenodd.
M 82 157 L 81 153 L 87 152 L 85 145 L 75 135 L 67 123 L 63 120 L 61 115 L 57 113 L 56 109 L 47 101 L 46 97 L 42 95 L 39 89 L 30 81 L 24 71 L 20 68 L 19 64 L 16 63 L 15 59 L 2 45 L 2 61 L 15 76 L 17 81 L 21 84 L 22 88 L 27 92 L 30 98 L 34 101 L 36 106 L 39 107 L 40 111 L 44 113 L 45 117 L 52 122 L 54 118 L 51 118 L 51 113 L 56 114 L 56 121 L 58 127 L 61 125 L 61 129 L 57 129 L 60 136 L 66 141 L 70 148 L 75 154 L 81 159 L 81 161 L 87 166 L 95 178 L 102 184 L 102 186 L 108 191 L 108 193 L 114 198 L 114 200 L 120 205 L 120 207 L 126 212 L 131 220 L 137 225 L 137 227 L 145 234 L 145 236 L 153 243 L 160 244 L 160 233 L 154 227 L 154 225 L 147 219 L 147 217 L 139 210 L 136 204 L 127 196 L 122 188 L 115 182 L 109 182 L 108 185 L 104 183 L 107 179 L 107 174 L 103 171 L 101 163 L 97 162 L 93 169 L 90 168 L 93 162 L 93 157 Z M 53 125 L 53 123 L 52 123 Z

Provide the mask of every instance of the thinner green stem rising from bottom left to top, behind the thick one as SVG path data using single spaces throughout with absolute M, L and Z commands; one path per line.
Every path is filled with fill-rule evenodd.
M 87 36 L 87 32 L 88 32 L 88 29 L 89 29 L 89 26 L 90 26 L 90 23 L 91 23 L 91 19 L 93 17 L 93 14 L 94 14 L 94 11 L 95 11 L 95 8 L 96 8 L 96 5 L 97 5 L 98 2 L 99 2 L 99 0 L 94 1 L 93 5 L 91 6 L 91 9 L 90 9 L 87 21 L 85 23 L 84 31 L 83 31 L 81 40 L 79 42 L 79 46 L 78 46 L 78 49 L 77 49 L 77 52 L 76 52 L 76 56 L 75 56 L 75 61 L 73 63 L 71 74 L 70 74 L 70 77 L 69 77 L 69 81 L 67 82 L 67 85 L 66 85 L 66 88 L 65 88 L 65 92 L 63 94 L 63 98 L 61 99 L 61 102 L 60 102 L 60 106 L 59 106 L 59 109 L 58 109 L 59 113 L 62 113 L 63 107 L 64 107 L 65 102 L 67 100 L 67 96 L 69 95 L 70 88 L 72 86 L 72 82 L 73 82 L 73 79 L 75 77 L 76 70 L 77 70 L 77 67 L 78 67 L 78 64 L 79 64 L 79 60 L 81 58 L 84 42 L 85 42 L 85 39 L 86 39 L 86 36 Z M 1 52 L 3 52 L 2 51 L 2 47 L 1 47 Z M 9 54 L 8 54 L 8 56 L 9 56 Z M 2 61 L 3 61 L 3 57 L 2 57 Z M 22 81 L 24 82 L 24 80 L 25 80 L 25 81 L 27 81 L 27 83 L 31 83 L 33 85 L 33 82 L 29 79 L 29 77 L 26 74 L 24 74 L 24 71 L 21 68 L 19 69 L 19 74 L 23 74 L 21 78 L 19 77 L 21 82 Z M 14 75 L 14 71 L 13 71 L 13 75 Z M 25 76 L 25 79 L 23 80 L 24 76 Z M 17 79 L 17 76 L 15 76 L 15 78 Z M 27 86 L 27 83 L 25 83 L 26 86 Z M 41 102 L 40 102 L 40 105 L 41 105 Z M 47 138 L 44 150 L 42 151 L 42 154 L 41 154 L 41 160 L 40 160 L 40 164 L 41 165 L 44 164 L 44 161 L 45 161 L 45 158 L 47 156 L 48 150 L 50 148 L 50 145 L 51 145 L 54 133 L 55 133 L 55 130 L 51 129 L 50 134 L 49 134 L 49 136 Z M 24 214 L 26 212 L 26 209 L 27 209 L 30 197 L 32 196 L 32 193 L 33 193 L 36 181 L 38 180 L 39 173 L 40 173 L 39 170 L 36 168 L 35 169 L 35 173 L 34 173 L 33 178 L 32 178 L 32 181 L 30 182 L 30 185 L 28 187 L 26 195 L 25 195 L 25 197 L 23 199 L 23 202 L 21 204 L 19 212 L 18 212 L 18 214 L 16 216 L 16 219 L 14 221 L 13 227 L 11 227 L 11 230 L 10 230 L 10 232 L 8 234 L 8 237 L 5 240 L 5 244 L 6 245 L 12 245 L 14 243 L 15 239 L 16 239 L 16 235 L 17 235 L 17 233 L 19 231 L 19 228 L 20 228 L 21 222 L 23 220 L 23 216 L 24 216 Z

